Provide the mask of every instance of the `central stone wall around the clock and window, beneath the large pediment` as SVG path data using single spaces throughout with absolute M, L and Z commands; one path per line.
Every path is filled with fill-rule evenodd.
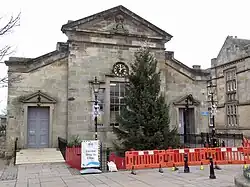
M 99 38 L 99 40 L 103 41 L 105 38 Z M 105 89 L 106 104 L 104 126 L 98 127 L 98 137 L 106 143 L 111 143 L 114 135 L 109 124 L 109 84 L 110 81 L 125 81 L 124 78 L 114 77 L 112 68 L 116 62 L 120 61 L 129 66 L 137 50 L 138 46 L 130 44 L 107 45 L 101 42 L 86 44 L 79 41 L 70 44 L 68 97 L 73 97 L 75 100 L 68 102 L 69 136 L 78 134 L 84 139 L 94 137 L 94 123 L 91 115 L 93 103 L 90 102 L 94 97 L 90 81 L 93 81 L 96 76 L 99 81 L 103 82 L 101 88 Z M 164 50 L 152 49 L 152 51 L 159 60 L 159 69 L 161 69 L 162 64 L 164 65 Z M 165 79 L 162 78 L 162 80 L 162 91 L 164 91 Z

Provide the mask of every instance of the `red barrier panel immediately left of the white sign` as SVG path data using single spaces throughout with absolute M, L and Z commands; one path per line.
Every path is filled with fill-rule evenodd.
M 66 163 L 72 168 L 81 170 L 81 147 L 66 148 Z

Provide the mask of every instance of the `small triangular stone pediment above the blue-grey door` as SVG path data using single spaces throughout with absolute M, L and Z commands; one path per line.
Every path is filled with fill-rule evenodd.
M 56 100 L 40 90 L 24 97 L 22 99 L 23 103 L 56 103 Z

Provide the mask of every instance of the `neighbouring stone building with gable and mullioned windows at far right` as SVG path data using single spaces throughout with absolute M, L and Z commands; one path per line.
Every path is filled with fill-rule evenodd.
M 218 131 L 249 136 L 250 40 L 228 36 L 211 65 L 211 77 L 217 85 Z

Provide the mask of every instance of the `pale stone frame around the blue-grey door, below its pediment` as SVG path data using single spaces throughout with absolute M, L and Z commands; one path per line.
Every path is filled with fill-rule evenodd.
M 42 103 L 41 107 L 49 107 L 49 147 L 53 147 L 53 116 L 54 103 Z M 20 126 L 20 144 L 23 148 L 28 148 L 28 107 L 37 106 L 37 103 L 23 104 L 23 125 Z

